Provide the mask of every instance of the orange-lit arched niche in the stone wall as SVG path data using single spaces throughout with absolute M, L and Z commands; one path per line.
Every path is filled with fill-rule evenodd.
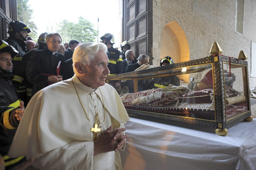
M 183 29 L 176 21 L 169 22 L 161 32 L 161 58 L 171 56 L 175 63 L 189 60 L 189 46 Z M 189 75 L 179 76 L 188 82 Z

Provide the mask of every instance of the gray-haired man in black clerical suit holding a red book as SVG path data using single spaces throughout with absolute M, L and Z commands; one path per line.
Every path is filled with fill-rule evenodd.
M 46 36 L 47 48 L 30 52 L 26 77 L 33 83 L 31 97 L 42 88 L 62 81 L 60 66 L 61 62 L 65 61 L 65 57 L 57 52 L 61 42 L 59 33 L 49 33 Z

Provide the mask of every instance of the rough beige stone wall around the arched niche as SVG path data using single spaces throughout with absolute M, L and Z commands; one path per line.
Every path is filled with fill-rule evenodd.
M 235 30 L 235 0 L 153 0 L 153 64 L 159 66 L 163 28 L 176 21 L 186 35 L 190 60 L 208 56 L 215 41 L 223 55 L 237 58 L 243 50 L 248 57 L 250 88 L 256 87 L 256 78 L 250 77 L 251 41 L 256 42 L 255 18 L 256 1 L 246 0 L 244 29 L 240 34 Z

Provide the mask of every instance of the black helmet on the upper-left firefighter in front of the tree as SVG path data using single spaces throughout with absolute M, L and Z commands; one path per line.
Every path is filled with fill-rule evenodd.
M 27 33 L 30 33 L 31 30 L 29 28 L 29 26 L 22 22 L 22 21 L 12 21 L 9 23 L 9 27 L 8 27 L 8 34 L 15 34 L 18 33 L 19 31 L 25 30 L 27 31 Z

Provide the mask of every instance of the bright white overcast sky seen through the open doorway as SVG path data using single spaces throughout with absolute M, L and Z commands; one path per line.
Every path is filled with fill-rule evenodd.
M 34 11 L 32 21 L 38 28 L 38 35 L 46 32 L 47 27 L 57 31 L 56 23 L 64 19 L 77 23 L 79 16 L 90 20 L 95 30 L 99 18 L 99 38 L 105 33 L 117 37 L 121 29 L 115 22 L 118 20 L 118 0 L 29 0 L 28 5 Z

